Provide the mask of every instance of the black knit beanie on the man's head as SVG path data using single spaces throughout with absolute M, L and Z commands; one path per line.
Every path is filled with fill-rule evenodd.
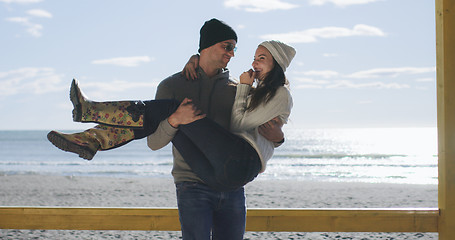
M 229 39 L 234 39 L 237 42 L 237 34 L 234 29 L 216 18 L 210 19 L 201 28 L 198 52 Z

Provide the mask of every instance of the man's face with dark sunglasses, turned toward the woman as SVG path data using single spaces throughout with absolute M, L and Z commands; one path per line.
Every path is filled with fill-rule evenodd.
M 235 45 L 237 42 L 233 39 L 225 40 L 214 44 L 207 48 L 209 50 L 210 59 L 217 68 L 225 68 L 227 64 L 234 57 Z

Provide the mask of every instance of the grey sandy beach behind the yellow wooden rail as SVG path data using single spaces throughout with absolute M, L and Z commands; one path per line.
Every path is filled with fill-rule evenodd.
M 2 206 L 176 207 L 171 178 L 0 176 Z M 249 208 L 437 207 L 437 185 L 256 180 Z M 181 239 L 180 232 L 0 230 L 0 239 Z M 247 232 L 245 239 L 438 239 L 437 233 Z

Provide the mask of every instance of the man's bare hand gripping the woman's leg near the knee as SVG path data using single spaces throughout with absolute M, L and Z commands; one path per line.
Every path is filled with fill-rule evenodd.
M 185 98 L 177 110 L 168 117 L 167 121 L 172 127 L 178 128 L 182 124 L 192 123 L 202 118 L 205 118 L 205 114 L 201 114 L 201 111 L 194 106 L 191 99 Z

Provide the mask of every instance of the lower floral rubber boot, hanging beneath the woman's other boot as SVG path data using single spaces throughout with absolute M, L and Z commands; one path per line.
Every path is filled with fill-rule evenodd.
M 84 132 L 61 133 L 51 131 L 47 139 L 57 148 L 73 152 L 79 157 L 92 160 L 97 151 L 120 147 L 134 139 L 134 130 L 97 125 Z

